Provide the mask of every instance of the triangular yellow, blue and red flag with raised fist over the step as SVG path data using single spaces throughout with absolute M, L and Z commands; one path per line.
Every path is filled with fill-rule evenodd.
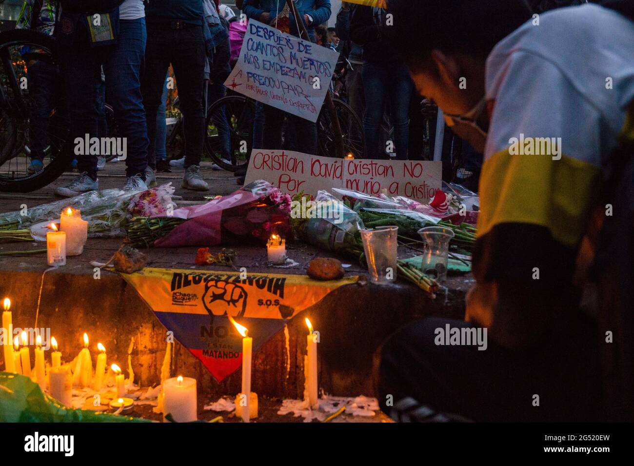
M 152 268 L 122 276 L 218 382 L 242 364 L 242 336 L 228 315 L 249 328 L 257 351 L 286 320 L 357 280 L 316 282 L 303 275 Z

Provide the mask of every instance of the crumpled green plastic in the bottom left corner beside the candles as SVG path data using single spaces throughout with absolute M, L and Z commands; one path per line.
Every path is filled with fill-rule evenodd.
M 110 413 L 67 408 L 24 375 L 0 372 L 0 422 L 151 422 Z

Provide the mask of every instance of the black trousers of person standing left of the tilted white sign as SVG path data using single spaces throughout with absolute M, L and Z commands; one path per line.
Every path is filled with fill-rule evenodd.
M 181 23 L 182 24 L 182 23 Z M 200 164 L 205 141 L 203 112 L 203 79 L 205 41 L 202 27 L 185 25 L 172 29 L 171 23 L 147 23 L 148 42 L 145 49 L 145 75 L 141 81 L 143 105 L 148 125 L 148 165 L 156 168 L 154 145 L 157 133 L 157 110 L 165 83 L 165 74 L 172 63 L 178 87 L 179 110 L 183 113 L 185 168 Z

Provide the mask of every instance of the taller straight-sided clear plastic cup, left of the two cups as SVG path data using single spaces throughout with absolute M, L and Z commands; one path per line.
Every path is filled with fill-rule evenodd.
M 379 226 L 359 230 L 363 240 L 370 282 L 384 285 L 396 280 L 396 249 L 398 226 Z

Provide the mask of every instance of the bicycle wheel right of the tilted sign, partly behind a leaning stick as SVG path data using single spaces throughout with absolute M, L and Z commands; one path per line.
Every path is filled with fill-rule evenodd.
M 339 126 L 344 137 L 344 150 L 356 158 L 365 156 L 365 136 L 363 123 L 354 110 L 342 100 L 333 99 Z M 320 157 L 336 157 L 335 131 L 327 108 L 321 107 L 317 120 L 317 155 Z

